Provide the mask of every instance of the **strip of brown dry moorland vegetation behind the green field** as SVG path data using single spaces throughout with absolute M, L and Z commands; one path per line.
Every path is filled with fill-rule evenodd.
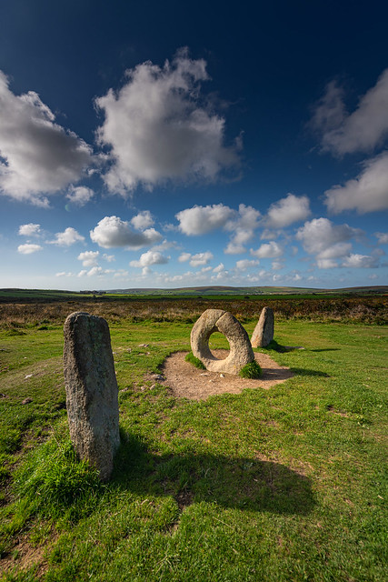
M 2 303 L 0 326 L 60 325 L 74 311 L 86 311 L 103 316 L 108 323 L 127 321 L 171 321 L 194 323 L 205 309 L 231 311 L 240 321 L 260 315 L 264 306 L 274 309 L 279 320 L 308 319 L 312 321 L 388 323 L 388 296 L 346 298 L 284 298 L 284 299 L 131 299 L 89 301 L 56 301 L 53 303 Z

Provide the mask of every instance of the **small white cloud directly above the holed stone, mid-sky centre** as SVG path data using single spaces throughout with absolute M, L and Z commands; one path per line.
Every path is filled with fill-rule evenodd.
M 175 216 L 184 235 L 205 235 L 217 228 L 223 228 L 234 214 L 235 211 L 229 206 L 214 204 L 186 208 Z

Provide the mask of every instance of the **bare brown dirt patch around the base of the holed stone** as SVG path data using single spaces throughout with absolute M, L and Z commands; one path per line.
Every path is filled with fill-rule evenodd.
M 168 386 L 174 396 L 178 397 L 205 400 L 208 396 L 217 394 L 240 394 L 244 388 L 268 390 L 293 377 L 290 368 L 279 366 L 270 356 L 260 352 L 254 354 L 254 359 L 263 370 L 263 375 L 257 380 L 199 370 L 184 361 L 186 354 L 187 352 L 174 352 L 166 357 L 162 366 L 162 375 L 165 379 L 158 380 Z M 218 349 L 214 350 L 213 354 L 219 359 L 224 359 L 229 352 L 226 349 Z

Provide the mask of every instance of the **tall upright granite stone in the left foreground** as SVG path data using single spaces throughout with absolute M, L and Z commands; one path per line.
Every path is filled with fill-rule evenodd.
M 107 480 L 120 444 L 118 386 L 109 327 L 103 317 L 77 311 L 64 326 L 66 407 L 75 451 Z

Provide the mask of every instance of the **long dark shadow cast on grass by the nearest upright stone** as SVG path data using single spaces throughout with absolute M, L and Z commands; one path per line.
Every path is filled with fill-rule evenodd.
M 139 495 L 173 496 L 181 509 L 194 502 L 208 502 L 306 515 L 315 505 L 311 480 L 280 463 L 194 452 L 157 455 L 148 451 L 144 441 L 124 431 L 112 486 Z

